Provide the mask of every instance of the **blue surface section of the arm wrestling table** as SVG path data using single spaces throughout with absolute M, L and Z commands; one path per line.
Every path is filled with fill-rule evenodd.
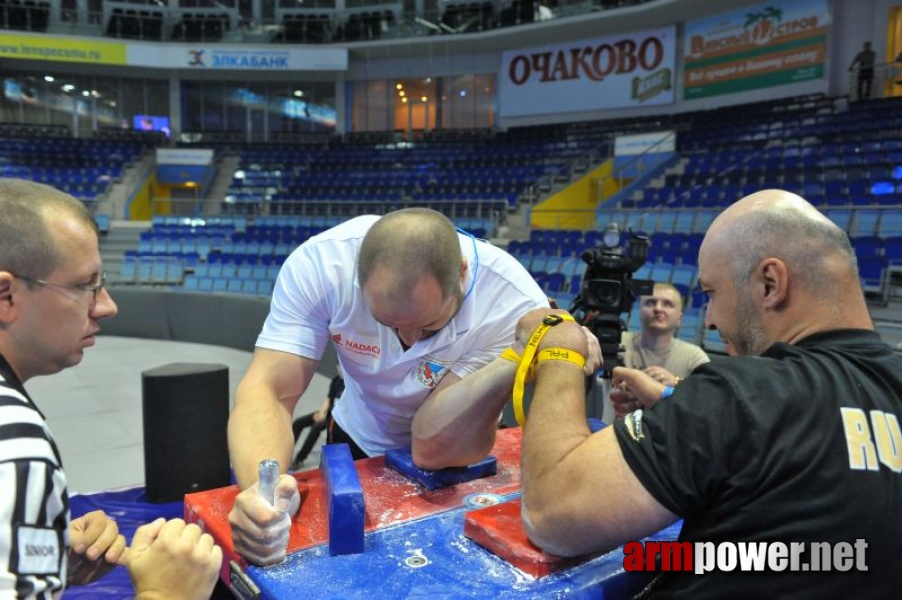
M 516 497 L 515 494 L 511 497 Z M 464 536 L 463 507 L 366 535 L 362 554 L 330 556 L 324 546 L 289 554 L 273 567 L 249 566 L 263 598 L 631 598 L 652 573 L 623 572 L 618 548 L 535 579 Z M 676 529 L 654 539 L 676 539 Z M 662 534 L 664 534 L 662 536 Z

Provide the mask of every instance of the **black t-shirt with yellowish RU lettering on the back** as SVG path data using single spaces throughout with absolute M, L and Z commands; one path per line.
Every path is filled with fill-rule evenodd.
M 900 417 L 902 359 L 843 330 L 700 366 L 643 411 L 640 441 L 634 418 L 618 420 L 630 468 L 683 518 L 681 541 L 868 544 L 867 571 L 669 573 L 661 597 L 902 597 Z

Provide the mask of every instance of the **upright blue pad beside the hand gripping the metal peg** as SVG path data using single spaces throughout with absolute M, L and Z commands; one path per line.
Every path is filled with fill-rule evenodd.
M 329 555 L 360 554 L 366 506 L 350 447 L 325 444 L 320 450 L 320 468 L 327 486 Z

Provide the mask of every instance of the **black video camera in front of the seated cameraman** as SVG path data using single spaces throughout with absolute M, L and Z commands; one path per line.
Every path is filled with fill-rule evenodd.
M 645 264 L 648 244 L 647 236 L 632 231 L 624 244 L 620 227 L 612 221 L 604 228 L 601 246 L 581 255 L 588 266 L 570 312 L 598 338 L 602 377 L 607 379 L 614 367 L 623 364 L 621 338 L 626 323 L 620 315 L 632 309 L 637 296 L 654 291 L 654 281 L 633 279 L 633 273 Z

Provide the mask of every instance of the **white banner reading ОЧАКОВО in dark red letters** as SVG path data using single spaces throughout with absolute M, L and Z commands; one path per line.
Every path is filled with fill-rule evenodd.
M 504 117 L 672 104 L 676 29 L 640 31 L 505 52 Z

